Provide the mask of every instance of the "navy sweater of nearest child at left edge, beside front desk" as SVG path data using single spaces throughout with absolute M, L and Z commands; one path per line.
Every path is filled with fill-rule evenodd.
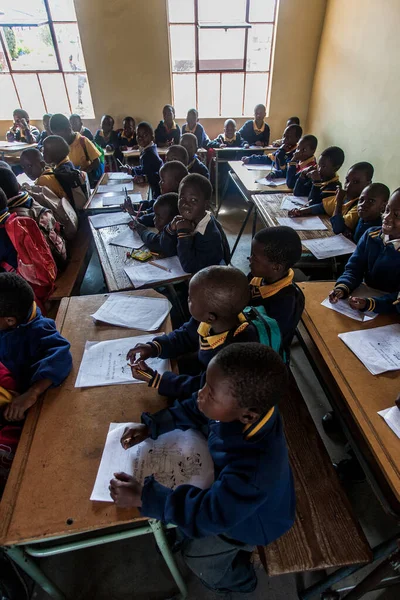
M 0 362 L 21 393 L 43 379 L 50 379 L 51 387 L 60 385 L 72 368 L 69 349 L 53 319 L 43 317 L 35 302 L 23 323 L 0 331 Z

